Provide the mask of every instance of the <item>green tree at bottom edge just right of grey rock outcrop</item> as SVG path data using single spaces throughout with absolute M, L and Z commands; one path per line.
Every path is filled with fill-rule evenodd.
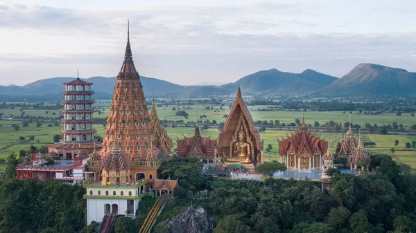
M 218 221 L 214 233 L 250 233 L 250 227 L 243 221 L 243 214 L 227 215 Z

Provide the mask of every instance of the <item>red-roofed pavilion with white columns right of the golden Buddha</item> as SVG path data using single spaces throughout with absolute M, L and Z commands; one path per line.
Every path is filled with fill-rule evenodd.
M 288 170 L 315 171 L 322 167 L 322 156 L 328 147 L 327 141 L 308 131 L 303 119 L 299 131 L 279 141 L 279 155 Z

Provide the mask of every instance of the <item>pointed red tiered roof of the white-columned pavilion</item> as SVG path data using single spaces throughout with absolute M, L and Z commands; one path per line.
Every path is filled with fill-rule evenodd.
M 279 141 L 279 155 L 286 155 L 287 151 L 291 149 L 291 147 L 295 151 L 296 155 L 300 155 L 300 153 L 305 150 L 308 153 L 313 154 L 317 149 L 321 154 L 324 154 L 328 150 L 329 143 L 309 132 L 303 119 L 299 131 L 292 136 L 288 136 L 288 138 Z

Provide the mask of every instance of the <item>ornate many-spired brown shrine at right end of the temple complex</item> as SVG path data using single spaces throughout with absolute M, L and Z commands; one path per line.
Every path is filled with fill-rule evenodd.
M 361 145 L 360 137 L 356 140 L 351 129 L 351 115 L 349 120 L 349 129 L 344 138 L 338 142 L 336 152 L 340 158 L 347 158 L 347 165 L 350 169 L 356 170 L 358 164 L 363 158 L 367 157 L 367 149 Z M 364 169 L 364 167 L 362 168 Z

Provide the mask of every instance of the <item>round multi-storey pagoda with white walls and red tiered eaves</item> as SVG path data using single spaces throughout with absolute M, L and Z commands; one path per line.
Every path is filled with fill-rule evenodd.
M 94 148 L 101 149 L 101 144 L 94 142 L 94 119 L 92 114 L 95 112 L 92 104 L 92 83 L 76 80 L 64 83 L 64 115 L 61 123 L 64 128 L 60 131 L 62 140 L 48 145 L 51 157 L 59 160 L 73 160 L 76 156 L 88 156 Z

